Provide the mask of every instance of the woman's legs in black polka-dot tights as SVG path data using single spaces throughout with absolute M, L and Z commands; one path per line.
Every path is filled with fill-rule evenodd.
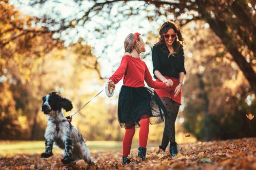
M 165 115 L 164 132 L 161 143 L 161 149 L 165 150 L 169 141 L 170 143 L 175 142 L 175 121 L 178 114 L 179 103 L 173 102 L 169 98 L 161 98 L 166 110 Z

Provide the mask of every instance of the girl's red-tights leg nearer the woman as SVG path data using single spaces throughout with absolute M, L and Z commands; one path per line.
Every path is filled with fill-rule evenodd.
M 139 129 L 139 147 L 146 148 L 148 142 L 148 133 L 149 133 L 149 117 L 144 116 L 143 119 L 140 119 L 140 129 Z

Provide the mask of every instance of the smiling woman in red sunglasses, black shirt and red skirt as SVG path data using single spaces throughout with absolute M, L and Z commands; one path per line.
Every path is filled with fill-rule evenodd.
M 178 25 L 172 21 L 164 22 L 159 34 L 158 42 L 152 50 L 154 78 L 157 82 L 169 82 L 168 79 L 173 82 L 171 88 L 155 89 L 167 110 L 159 152 L 165 151 L 170 142 L 170 153 L 174 156 L 178 153 L 175 140 L 175 120 L 179 105 L 181 105 L 181 86 L 186 74 L 183 51 L 184 39 Z

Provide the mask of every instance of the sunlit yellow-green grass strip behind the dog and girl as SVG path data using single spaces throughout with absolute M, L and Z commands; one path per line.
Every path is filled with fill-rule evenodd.
M 122 148 L 121 141 L 87 141 L 91 152 L 116 150 Z M 156 143 L 149 143 L 148 147 L 158 147 Z M 132 148 L 138 148 L 138 141 L 134 141 Z M 0 155 L 39 154 L 45 149 L 44 141 L 0 141 Z M 53 147 L 54 154 L 62 153 L 57 146 Z

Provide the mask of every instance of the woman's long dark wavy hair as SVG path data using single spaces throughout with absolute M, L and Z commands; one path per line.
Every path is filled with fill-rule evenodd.
M 173 43 L 173 48 L 174 48 L 174 53 L 179 53 L 180 50 L 182 50 L 183 45 L 185 44 L 184 38 L 182 37 L 179 26 L 173 22 L 173 21 L 166 21 L 164 22 L 159 30 L 159 35 L 160 37 L 158 38 L 158 42 L 155 44 L 155 46 L 159 46 L 161 51 L 168 52 L 166 51 L 166 48 L 164 48 L 164 37 L 163 34 L 167 33 L 169 29 L 174 29 L 174 32 L 177 33 L 177 38 Z

